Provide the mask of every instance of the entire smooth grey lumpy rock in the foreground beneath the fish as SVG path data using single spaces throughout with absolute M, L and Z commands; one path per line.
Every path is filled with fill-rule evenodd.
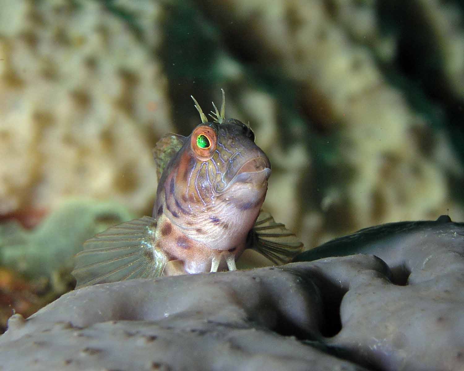
M 73 291 L 10 318 L 3 370 L 462 370 L 464 225 L 406 223 L 377 230 L 389 264 L 357 254 Z

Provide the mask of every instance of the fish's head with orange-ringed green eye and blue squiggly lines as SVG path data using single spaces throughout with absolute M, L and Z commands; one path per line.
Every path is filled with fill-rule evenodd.
M 227 119 L 198 125 L 178 161 L 174 192 L 191 211 L 212 211 L 218 203 L 228 205 L 229 212 L 261 207 L 271 163 L 244 123 Z

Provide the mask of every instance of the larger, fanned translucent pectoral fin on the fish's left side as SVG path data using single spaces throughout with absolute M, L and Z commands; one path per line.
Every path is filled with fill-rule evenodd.
M 76 288 L 96 283 L 161 275 L 168 257 L 154 246 L 156 220 L 142 217 L 122 223 L 84 243 L 75 256 Z

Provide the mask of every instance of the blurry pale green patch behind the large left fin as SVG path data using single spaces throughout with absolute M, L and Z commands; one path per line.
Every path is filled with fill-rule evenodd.
M 33 230 L 18 222 L 0 224 L 0 265 L 27 277 L 71 270 L 82 243 L 111 225 L 134 218 L 125 207 L 89 199 L 70 200 Z

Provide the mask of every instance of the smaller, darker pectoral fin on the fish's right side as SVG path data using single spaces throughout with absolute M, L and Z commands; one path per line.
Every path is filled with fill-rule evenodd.
M 284 224 L 276 223 L 268 212 L 260 212 L 250 233 L 249 247 L 275 264 L 288 263 L 303 251 L 303 243 Z

